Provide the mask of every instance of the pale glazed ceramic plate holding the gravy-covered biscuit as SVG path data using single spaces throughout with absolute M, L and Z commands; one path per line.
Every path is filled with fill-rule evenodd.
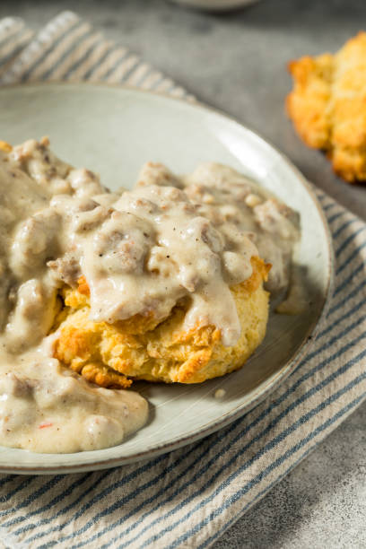
M 203 385 L 135 384 L 150 420 L 118 447 L 77 454 L 0 448 L 0 471 L 74 472 L 152 457 L 204 437 L 247 412 L 285 379 L 307 352 L 332 279 L 327 222 L 309 184 L 281 153 L 221 113 L 149 92 L 92 84 L 30 84 L 0 89 L 0 139 L 48 135 L 58 155 L 100 172 L 110 188 L 129 186 L 146 160 L 184 173 L 220 161 L 257 180 L 301 213 L 296 261 L 311 306 L 297 317 L 271 315 L 266 339 L 246 366 Z M 225 389 L 222 399 L 214 397 Z

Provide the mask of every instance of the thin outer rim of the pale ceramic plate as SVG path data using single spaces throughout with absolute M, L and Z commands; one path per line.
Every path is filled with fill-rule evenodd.
M 40 83 L 28 82 L 28 83 L 4 84 L 0 86 L 0 94 L 6 90 L 8 91 L 20 90 L 23 88 L 31 88 L 31 87 L 50 88 L 50 87 L 58 87 L 58 86 L 65 87 L 65 88 L 92 87 L 92 88 L 102 88 L 106 90 L 117 89 L 120 91 L 135 92 L 138 94 L 159 97 L 162 99 L 170 100 L 172 102 L 178 102 L 179 104 L 183 103 L 186 106 L 188 105 L 188 106 L 194 107 L 195 109 L 204 111 L 204 113 L 208 112 L 214 115 L 218 115 L 221 118 L 224 118 L 225 121 L 229 121 L 231 122 L 231 124 L 234 124 L 235 126 L 239 126 L 241 129 L 244 129 L 250 135 L 254 136 L 259 141 L 266 144 L 266 146 L 273 149 L 274 152 L 279 155 L 279 157 L 281 158 L 281 161 L 283 161 L 287 165 L 287 167 L 290 170 L 292 170 L 293 175 L 299 180 L 302 187 L 305 188 L 309 197 L 311 198 L 312 204 L 316 207 L 318 211 L 318 216 L 320 221 L 322 222 L 322 225 L 325 231 L 326 240 L 327 240 L 327 289 L 324 292 L 323 300 L 318 309 L 319 311 L 318 315 L 314 317 L 314 319 L 312 319 L 311 324 L 309 325 L 309 335 L 304 337 L 304 340 L 302 341 L 300 347 L 297 349 L 296 353 L 292 355 L 292 359 L 285 362 L 280 370 L 272 374 L 274 379 L 271 385 L 269 385 L 267 388 L 260 389 L 261 385 L 265 383 L 266 380 L 262 381 L 262 383 L 253 390 L 254 393 L 258 391 L 259 394 L 257 396 L 253 396 L 250 402 L 248 402 L 246 405 L 238 405 L 235 409 L 233 409 L 231 412 L 222 416 L 222 418 L 220 418 L 219 420 L 215 421 L 214 423 L 210 423 L 208 427 L 203 427 L 199 431 L 188 432 L 184 437 L 180 438 L 179 440 L 161 443 L 160 445 L 156 446 L 153 449 L 146 449 L 144 451 L 137 452 L 134 455 L 127 456 L 127 457 L 123 457 L 123 456 L 109 457 L 106 459 L 101 459 L 99 461 L 79 463 L 77 465 L 75 464 L 70 466 L 68 465 L 0 466 L 0 473 L 4 473 L 4 474 L 18 474 L 18 475 L 54 475 L 54 474 L 64 474 L 64 473 L 71 474 L 71 473 L 78 473 L 78 472 L 101 470 L 101 469 L 106 469 L 106 468 L 115 467 L 115 466 L 123 466 L 131 463 L 136 463 L 142 459 L 153 459 L 154 457 L 158 457 L 161 454 L 168 453 L 175 449 L 182 448 L 187 444 L 196 442 L 196 440 L 203 439 L 206 436 L 212 434 L 213 432 L 226 427 L 230 423 L 233 423 L 234 421 L 239 419 L 242 415 L 247 414 L 255 406 L 263 402 L 266 396 L 274 392 L 274 390 L 278 388 L 279 385 L 283 383 L 283 381 L 285 381 L 285 379 L 287 379 L 291 375 L 292 371 L 296 369 L 299 362 L 301 362 L 301 359 L 303 358 L 303 356 L 306 353 L 308 353 L 314 340 L 316 339 L 316 336 L 318 335 L 318 331 L 320 327 L 322 326 L 327 316 L 327 311 L 329 309 L 333 288 L 334 288 L 334 283 L 335 283 L 335 275 L 334 275 L 335 254 L 333 249 L 332 236 L 331 236 L 330 228 L 327 223 L 326 214 L 324 213 L 318 201 L 318 197 L 316 196 L 313 187 L 309 183 L 308 179 L 306 179 L 305 176 L 301 173 L 301 170 L 299 170 L 281 150 L 279 150 L 274 144 L 272 144 L 265 137 L 258 134 L 257 131 L 251 129 L 248 126 L 245 126 L 237 118 L 234 118 L 233 116 L 228 115 L 222 109 L 217 109 L 215 107 L 212 107 L 211 105 L 208 105 L 199 100 L 196 100 L 196 98 L 190 95 L 189 93 L 187 93 L 188 99 L 184 99 L 184 98 L 172 96 L 166 92 L 153 92 L 153 91 L 144 90 L 142 88 L 138 88 L 135 86 L 118 84 L 118 83 L 92 83 L 92 82 L 73 83 L 73 82 L 65 82 L 65 81 L 52 81 L 52 82 L 40 82 Z M 6 447 L 2 447 L 2 448 L 5 449 Z M 78 453 L 80 454 L 81 457 L 83 456 L 83 452 L 78 452 Z M 35 455 L 37 454 L 35 453 Z M 47 456 L 47 454 L 39 454 L 39 456 Z

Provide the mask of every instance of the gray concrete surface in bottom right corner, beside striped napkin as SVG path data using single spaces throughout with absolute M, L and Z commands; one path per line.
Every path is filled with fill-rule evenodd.
M 366 547 L 365 425 L 362 405 L 213 548 Z

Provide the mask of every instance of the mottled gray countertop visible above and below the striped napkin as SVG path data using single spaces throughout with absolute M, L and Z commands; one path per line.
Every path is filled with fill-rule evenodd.
M 191 11 L 162 0 L 12 0 L 0 18 L 35 29 L 73 9 L 200 100 L 257 130 L 318 187 L 366 219 L 366 185 L 337 179 L 322 153 L 301 143 L 285 117 L 286 63 L 335 51 L 361 30 L 364 0 L 262 0 L 233 13 Z M 366 405 L 248 511 L 214 545 L 294 549 L 366 546 Z

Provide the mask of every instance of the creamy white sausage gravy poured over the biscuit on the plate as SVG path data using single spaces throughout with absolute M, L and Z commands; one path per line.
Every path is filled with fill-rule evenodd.
M 4 148 L 4 147 L 3 147 Z M 188 303 L 185 327 L 213 325 L 235 344 L 230 286 L 251 257 L 272 264 L 268 287 L 289 283 L 297 216 L 220 164 L 178 178 L 147 163 L 131 191 L 109 193 L 30 140 L 0 152 L 0 443 L 38 452 L 100 449 L 147 418 L 132 391 L 96 388 L 51 357 L 59 292 L 84 277 L 91 318 L 156 323 Z

